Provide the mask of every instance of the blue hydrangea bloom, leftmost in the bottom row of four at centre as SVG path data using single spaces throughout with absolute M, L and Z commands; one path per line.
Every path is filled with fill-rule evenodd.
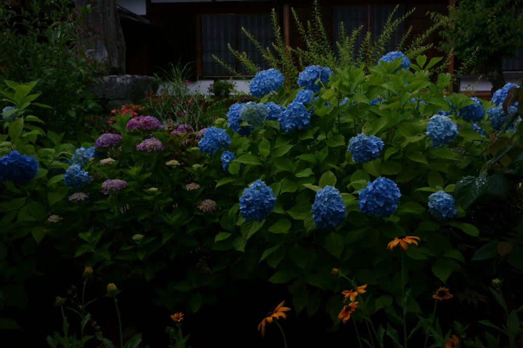
M 246 221 L 261 222 L 275 206 L 274 192 L 261 180 L 256 180 L 248 189 L 244 189 L 240 197 L 240 213 Z

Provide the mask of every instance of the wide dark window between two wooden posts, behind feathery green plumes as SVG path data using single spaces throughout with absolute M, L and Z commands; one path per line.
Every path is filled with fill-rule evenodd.
M 339 26 L 343 22 L 345 27 L 345 34 L 350 36 L 350 33 L 363 26 L 356 42 L 356 52 L 365 39 L 367 31 L 372 35 L 372 41 L 376 41 L 383 30 L 383 26 L 395 6 L 391 5 L 365 5 L 365 6 L 340 6 L 333 8 L 333 41 L 340 40 Z M 394 19 L 400 18 L 405 14 L 405 6 L 398 6 L 394 13 Z M 403 36 L 403 26 L 400 24 L 396 31 L 391 35 L 388 45 L 385 46 L 384 52 L 395 51 L 397 45 L 401 42 Z

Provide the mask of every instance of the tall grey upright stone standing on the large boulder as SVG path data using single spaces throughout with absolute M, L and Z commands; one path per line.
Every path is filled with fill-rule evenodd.
M 89 49 L 86 55 L 94 57 L 98 62 L 108 63 L 109 75 L 125 74 L 126 43 L 123 40 L 120 18 L 115 0 L 74 0 L 80 5 L 90 5 L 93 12 L 84 18 L 89 37 L 100 37 L 101 40 L 85 43 Z

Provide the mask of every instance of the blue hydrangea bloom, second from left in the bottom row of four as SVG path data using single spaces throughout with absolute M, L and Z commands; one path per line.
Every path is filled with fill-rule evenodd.
M 345 219 L 345 204 L 342 195 L 332 186 L 325 186 L 316 192 L 312 205 L 312 219 L 317 227 L 333 228 Z

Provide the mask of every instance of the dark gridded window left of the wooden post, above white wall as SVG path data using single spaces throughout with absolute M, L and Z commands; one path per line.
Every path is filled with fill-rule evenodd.
M 217 63 L 212 55 L 219 57 L 236 71 L 245 73 L 245 68 L 229 52 L 228 44 L 247 56 L 259 67 L 269 68 L 255 45 L 247 39 L 242 27 L 260 42 L 261 47 L 271 47 L 274 41 L 270 14 L 227 14 L 202 15 L 202 75 L 228 76 L 231 73 Z

